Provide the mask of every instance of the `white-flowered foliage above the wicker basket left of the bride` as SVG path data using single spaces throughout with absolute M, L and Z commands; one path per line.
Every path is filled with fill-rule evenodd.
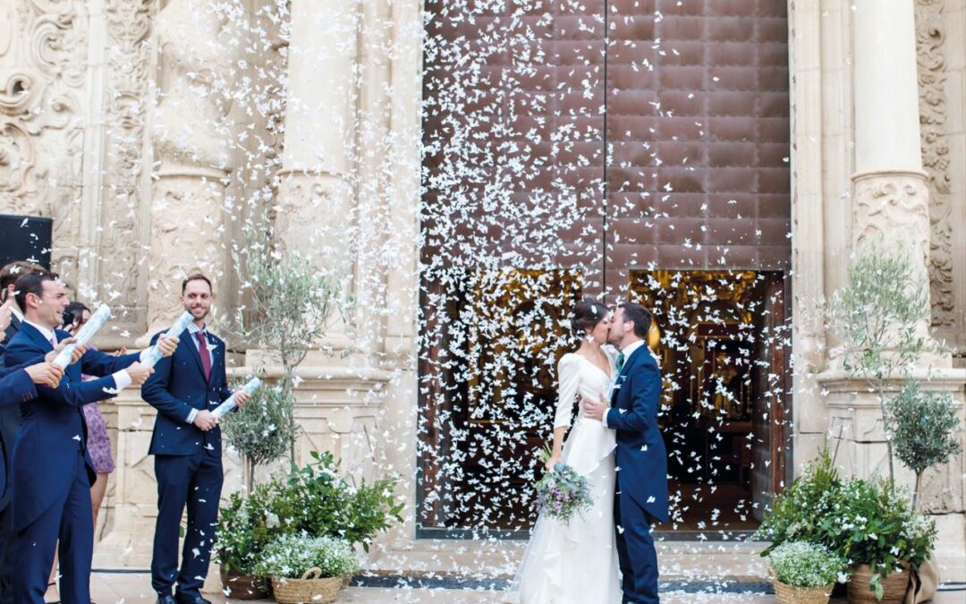
M 302 532 L 272 540 L 254 571 L 258 577 L 300 579 L 311 568 L 321 570 L 323 578 L 344 577 L 358 570 L 358 561 L 348 541 Z

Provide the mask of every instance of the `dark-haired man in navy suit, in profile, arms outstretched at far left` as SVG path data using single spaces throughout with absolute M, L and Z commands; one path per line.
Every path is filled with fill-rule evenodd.
M 23 312 L 20 331 L 7 346 L 6 362 L 34 360 L 71 337 L 57 329 L 68 304 L 60 281 L 50 273 L 27 273 L 15 284 Z M 161 346 L 171 354 L 175 342 Z M 81 381 L 81 372 L 102 376 Z M 36 400 L 21 403 L 21 425 L 14 443 L 13 497 L 14 601 L 42 604 L 54 549 L 60 541 L 61 601 L 90 604 L 94 520 L 91 485 L 97 477 L 87 454 L 86 425 L 81 408 L 140 385 L 151 369 L 138 355 L 110 357 L 96 350 L 68 365 L 57 388 L 38 387 Z

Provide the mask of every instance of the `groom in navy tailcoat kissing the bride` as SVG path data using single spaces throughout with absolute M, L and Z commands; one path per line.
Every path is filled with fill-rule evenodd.
M 608 341 L 620 349 L 610 408 L 603 397 L 584 399 L 583 415 L 617 431 L 613 522 L 625 604 L 656 604 L 655 520 L 668 522 L 668 453 L 658 430 L 661 370 L 644 339 L 651 313 L 640 304 L 617 306 Z

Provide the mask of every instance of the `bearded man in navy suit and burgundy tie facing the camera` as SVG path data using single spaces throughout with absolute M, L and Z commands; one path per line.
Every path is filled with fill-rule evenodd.
M 201 588 L 212 556 L 223 478 L 221 430 L 212 410 L 232 390 L 225 376 L 225 343 L 205 325 L 214 301 L 212 282 L 203 274 L 188 276 L 180 301 L 194 322 L 182 334 L 175 354 L 160 360 L 141 388 L 141 397 L 157 409 L 149 449 L 155 455 L 157 477 L 151 585 L 159 604 L 206 604 Z M 249 398 L 241 390 L 235 397 L 240 405 Z M 179 568 L 178 535 L 185 505 L 187 532 Z

